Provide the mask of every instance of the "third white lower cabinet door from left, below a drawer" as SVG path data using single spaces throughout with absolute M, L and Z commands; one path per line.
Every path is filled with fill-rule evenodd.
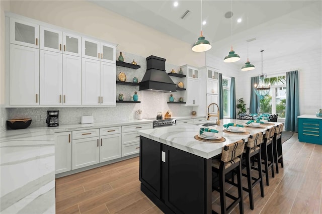
M 100 163 L 122 157 L 122 135 L 100 136 Z

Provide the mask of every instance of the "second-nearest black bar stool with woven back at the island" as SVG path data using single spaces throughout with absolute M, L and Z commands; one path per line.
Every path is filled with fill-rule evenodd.
M 242 175 L 247 177 L 247 183 L 248 183 L 248 188 L 243 187 L 243 190 L 249 193 L 251 209 L 254 209 L 253 188 L 255 187 L 256 184 L 260 183 L 261 196 L 264 197 L 263 174 L 262 174 L 262 164 L 261 164 L 262 143 L 263 143 L 263 132 L 259 132 L 254 135 L 251 135 L 248 138 L 246 149 L 244 150 L 244 155 L 243 155 L 243 159 L 245 159 L 245 162 L 246 162 L 247 174 L 242 173 Z M 257 168 L 254 166 L 252 167 L 251 165 L 252 157 L 257 158 L 257 165 L 258 165 Z M 251 169 L 258 171 L 258 178 L 252 177 Z

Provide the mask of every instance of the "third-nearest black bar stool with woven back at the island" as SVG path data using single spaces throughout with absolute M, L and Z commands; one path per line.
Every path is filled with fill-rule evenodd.
M 273 137 L 274 137 L 275 127 L 266 130 L 264 136 L 264 142 L 261 147 L 261 155 L 262 155 L 262 164 L 264 164 L 266 177 L 266 185 L 269 186 L 268 180 L 268 169 L 272 168 L 272 177 L 274 177 L 274 152 L 273 152 Z M 270 162 L 268 162 L 270 161 Z

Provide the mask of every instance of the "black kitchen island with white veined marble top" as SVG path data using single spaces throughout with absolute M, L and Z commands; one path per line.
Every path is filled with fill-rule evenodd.
M 182 125 L 139 131 L 141 191 L 165 213 L 211 213 L 211 159 L 221 154 L 222 147 L 240 139 L 248 141 L 250 134 L 265 128 L 243 128 L 250 134 L 223 132 L 223 125 L 245 125 L 245 120 L 220 120 L 213 126 L 225 138 L 222 143 L 208 143 L 194 138 L 201 126 Z M 270 122 L 271 123 L 271 122 Z

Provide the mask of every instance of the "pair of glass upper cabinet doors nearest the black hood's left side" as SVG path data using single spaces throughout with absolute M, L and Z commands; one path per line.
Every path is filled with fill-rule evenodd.
M 102 43 L 97 40 L 84 38 L 82 40 L 83 57 L 89 59 L 111 62 L 115 64 L 115 45 Z

